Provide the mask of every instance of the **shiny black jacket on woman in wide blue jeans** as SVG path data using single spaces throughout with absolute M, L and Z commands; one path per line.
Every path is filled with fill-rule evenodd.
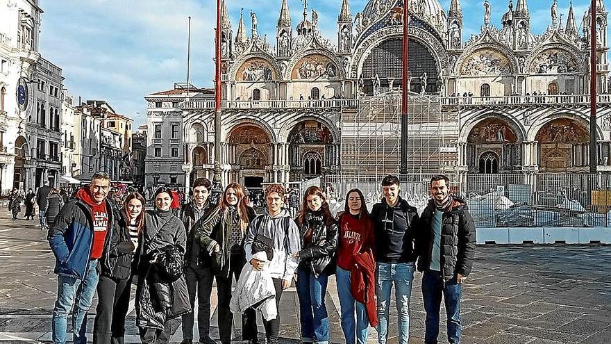
M 305 234 L 308 229 L 311 230 L 312 238 L 310 243 L 305 243 Z M 332 220 L 330 224 L 326 224 L 321 211 L 308 211 L 303 223 L 299 224 L 299 231 L 301 232 L 299 265 L 308 268 L 315 277 L 323 272 L 332 275 L 335 272 L 335 254 L 339 233 L 337 222 Z

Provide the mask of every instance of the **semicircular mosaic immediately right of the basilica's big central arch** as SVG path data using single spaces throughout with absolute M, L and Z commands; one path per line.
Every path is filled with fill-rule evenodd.
M 464 76 L 510 75 L 511 61 L 492 49 L 479 49 L 464 59 L 460 74 Z

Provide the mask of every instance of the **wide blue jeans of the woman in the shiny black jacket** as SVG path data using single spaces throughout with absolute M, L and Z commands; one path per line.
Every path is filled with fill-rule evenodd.
M 301 317 L 301 341 L 304 343 L 329 343 L 329 316 L 325 304 L 328 276 L 310 275 L 299 266 L 297 268 L 297 297 Z

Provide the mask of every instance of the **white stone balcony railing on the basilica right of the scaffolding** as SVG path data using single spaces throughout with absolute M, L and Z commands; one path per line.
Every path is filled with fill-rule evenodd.
M 514 106 L 514 105 L 586 105 L 589 104 L 589 95 L 528 95 L 503 97 L 444 97 L 441 99 L 444 106 Z M 598 104 L 611 103 L 611 95 L 597 95 Z

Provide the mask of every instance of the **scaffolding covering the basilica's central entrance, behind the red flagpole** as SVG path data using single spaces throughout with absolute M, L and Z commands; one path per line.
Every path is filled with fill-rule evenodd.
M 381 180 L 399 174 L 401 91 L 360 100 L 342 112 L 342 178 Z M 455 172 L 458 115 L 442 112 L 439 95 L 411 93 L 408 101 L 408 172 L 415 180 Z

